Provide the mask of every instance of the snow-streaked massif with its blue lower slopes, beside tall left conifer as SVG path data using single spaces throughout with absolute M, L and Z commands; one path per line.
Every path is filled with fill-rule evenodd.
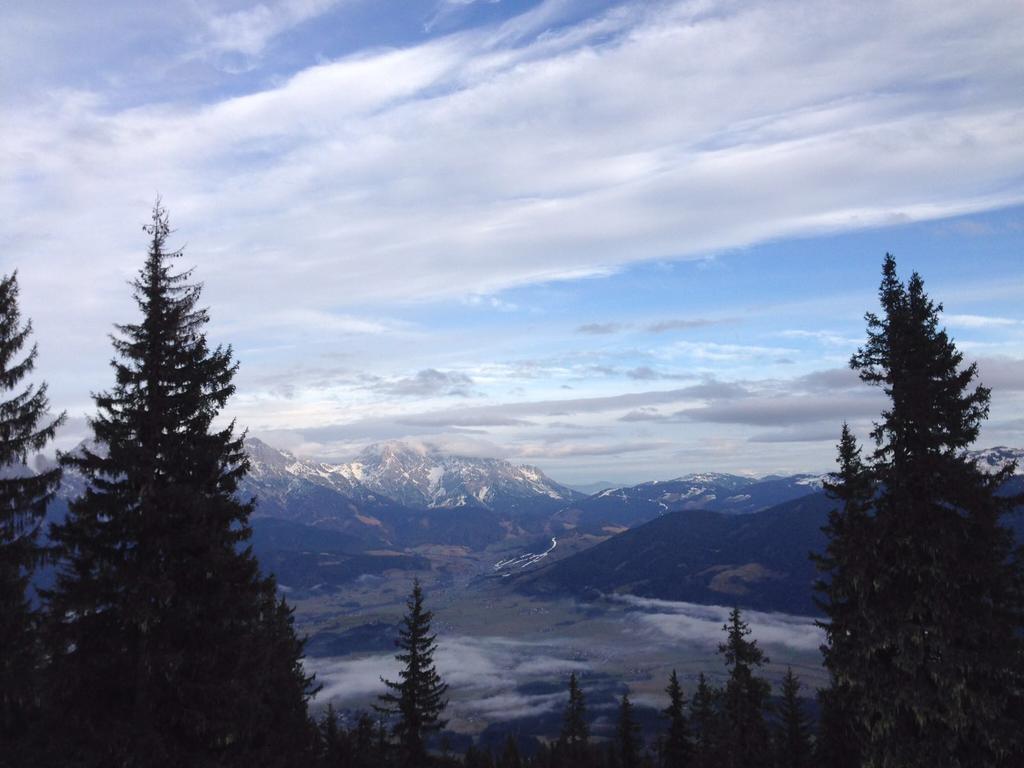
M 256 497 L 257 518 L 341 531 L 364 550 L 482 549 L 584 498 L 536 467 L 400 442 L 371 445 L 341 464 L 299 459 L 252 438 L 246 451 L 252 466 L 241 490 Z

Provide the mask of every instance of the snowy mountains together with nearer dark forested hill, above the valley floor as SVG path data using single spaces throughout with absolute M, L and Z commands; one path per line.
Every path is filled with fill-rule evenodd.
M 339 464 L 258 439 L 246 446 L 252 467 L 240 494 L 257 500 L 253 548 L 291 588 L 429 567 L 424 545 L 464 554 L 499 545 L 522 555 L 503 556 L 514 565 L 496 571 L 502 584 L 529 594 L 814 610 L 807 553 L 820 551 L 831 507 L 820 475 L 701 473 L 586 496 L 536 467 L 401 442 L 371 445 Z M 1011 485 L 1024 489 L 1024 451 L 972 458 L 988 471 L 1017 460 Z M 63 514 L 82 485 L 66 473 L 51 516 Z M 1014 524 L 1024 541 L 1021 517 Z M 529 550 L 539 554 L 522 554 Z

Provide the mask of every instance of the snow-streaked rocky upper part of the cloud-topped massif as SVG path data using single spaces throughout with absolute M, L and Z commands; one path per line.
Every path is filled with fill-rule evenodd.
M 413 509 L 476 507 L 501 515 L 553 512 L 583 499 L 536 467 L 498 459 L 445 456 L 402 442 L 366 449 L 346 464 L 297 459 L 257 439 L 247 441 L 252 475 L 301 478 L 358 501 L 385 497 Z

